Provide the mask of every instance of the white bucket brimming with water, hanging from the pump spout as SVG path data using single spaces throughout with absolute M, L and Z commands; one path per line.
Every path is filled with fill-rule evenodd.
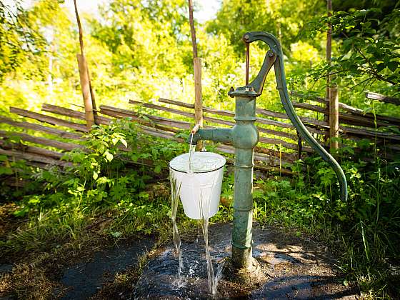
M 170 176 L 176 180 L 176 189 L 186 216 L 204 219 L 218 212 L 222 176 L 226 159 L 212 152 L 194 152 L 176 156 L 169 162 Z

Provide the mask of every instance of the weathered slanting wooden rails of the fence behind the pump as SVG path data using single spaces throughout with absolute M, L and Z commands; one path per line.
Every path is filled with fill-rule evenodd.
M 379 101 L 389 99 L 387 100 L 389 103 L 399 104 L 396 102 L 397 99 L 376 95 L 379 94 L 369 93 L 366 96 Z M 312 114 L 328 114 L 327 101 L 323 98 L 307 98 L 294 92 L 292 92 L 292 97 L 302 100 L 293 102 L 298 111 L 306 110 L 313 112 Z M 379 97 L 380 99 L 378 99 Z M 114 119 L 129 118 L 139 124 L 144 134 L 182 142 L 184 141 L 176 137 L 176 134 L 182 130 L 189 131 L 194 126 L 194 104 L 162 98 L 157 103 L 130 100 L 129 104 L 131 104 L 131 109 L 100 106 L 97 111 L 96 123 L 106 125 Z M 390 129 L 393 127 L 399 129 L 400 119 L 365 113 L 361 109 L 342 103 L 339 103 L 339 109 L 339 131 L 342 138 L 354 141 L 370 139 L 383 149 L 381 153 L 385 155 L 386 159 L 391 159 L 394 153 L 399 151 L 400 135 L 391 132 Z M 39 121 L 40 124 L 0 116 L 0 123 L 8 125 L 7 131 L 0 131 L 0 155 L 6 155 L 10 159 L 24 159 L 27 164 L 40 168 L 51 165 L 63 167 L 69 164 L 60 160 L 63 152 L 84 148 L 81 144 L 84 139 L 82 135 L 88 132 L 86 124 L 84 124 L 86 120 L 84 111 L 51 104 L 43 104 L 42 111 L 53 115 L 10 107 L 11 113 L 22 116 L 24 119 Z M 208 106 L 203 106 L 203 111 L 206 128 L 234 126 L 233 111 L 214 109 Z M 161 116 L 161 114 L 167 114 L 170 118 Z M 281 174 L 291 174 L 289 166 L 293 161 L 299 159 L 302 154 L 313 152 L 313 149 L 299 139 L 296 129 L 289 122 L 286 114 L 261 108 L 256 109 L 256 114 L 256 126 L 260 132 L 260 139 L 258 146 L 254 149 L 255 168 L 261 171 L 279 171 Z M 317 119 L 316 116 L 301 117 L 301 120 L 318 140 L 323 141 L 324 136 L 329 134 L 328 123 Z M 35 134 L 15 132 L 12 127 L 31 130 Z M 47 136 L 40 136 L 40 132 Z M 14 136 L 14 139 L 10 139 L 11 136 Z M 18 143 L 15 142 L 15 138 L 19 141 Z M 64 139 L 68 139 L 68 141 Z M 229 144 L 219 144 L 216 146 L 216 150 L 234 154 L 234 147 Z M 228 161 L 232 162 L 231 159 Z

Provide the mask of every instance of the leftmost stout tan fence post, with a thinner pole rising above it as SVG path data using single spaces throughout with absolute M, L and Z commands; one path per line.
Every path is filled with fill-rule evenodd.
M 82 96 L 84 97 L 86 128 L 90 130 L 91 126 L 94 124 L 94 113 L 90 96 L 89 73 L 85 56 L 76 54 L 76 59 L 78 60 L 79 79 L 81 80 Z

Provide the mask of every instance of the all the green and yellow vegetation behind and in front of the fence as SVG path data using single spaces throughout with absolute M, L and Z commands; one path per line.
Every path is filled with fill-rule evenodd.
M 9 106 L 39 110 L 44 102 L 81 106 L 78 33 L 62 2 L 39 0 L 23 9 L 19 1 L 15 6 L 0 1 L 2 115 L 9 114 Z M 399 6 L 394 1 L 334 1 L 334 15 L 328 18 L 325 1 L 223 1 L 215 19 L 196 24 L 204 104 L 233 109 L 226 92 L 244 85 L 240 39 L 244 31 L 258 30 L 281 40 L 290 89 L 324 96 L 326 75 L 333 73 L 342 102 L 400 116 L 398 106 L 364 98 L 367 89 L 400 94 Z M 86 56 L 98 104 L 124 108 L 128 99 L 194 99 L 188 15 L 184 0 L 113 0 L 101 7 L 99 16 L 84 15 Z M 332 64 L 325 62 L 328 21 L 334 33 Z M 251 74 L 258 72 L 264 55 L 264 46 L 252 46 Z M 275 86 L 269 76 L 259 107 L 282 111 Z M 87 138 L 91 151 L 66 153 L 71 165 L 62 171 L 35 169 L 0 156 L 0 176 L 29 180 L 23 188 L 1 187 L 1 216 L 9 222 L 0 241 L 4 257 L 79 249 L 94 239 L 88 228 L 99 224 L 99 239 L 169 236 L 166 166 L 186 145 L 141 134 L 130 121 L 96 126 Z M 119 146 L 131 150 L 120 151 Z M 292 177 L 256 179 L 255 219 L 325 241 L 340 257 L 344 284 L 355 281 L 364 296 L 395 298 L 400 294 L 400 159 L 379 159 L 371 151 L 373 141 L 358 146 L 365 151 L 354 154 L 347 146 L 338 154 L 349 181 L 349 201 L 339 200 L 334 172 L 310 157 L 296 162 Z M 223 198 L 231 199 L 232 189 L 228 173 Z M 213 221 L 230 221 L 231 216 L 231 208 L 222 206 Z M 2 289 L 23 297 L 31 290 L 22 290 L 16 276 L 4 279 Z

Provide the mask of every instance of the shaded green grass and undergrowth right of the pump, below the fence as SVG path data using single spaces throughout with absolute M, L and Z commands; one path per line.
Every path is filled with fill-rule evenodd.
M 339 197 L 336 176 L 328 164 L 320 158 L 298 164 L 306 168 L 305 175 L 295 166 L 296 176 L 290 181 L 278 177 L 256 181 L 256 219 L 301 226 L 311 234 L 326 236 L 341 256 L 341 269 L 349 279 L 357 279 L 361 291 L 372 296 L 397 294 L 394 286 L 382 289 L 382 285 L 396 280 L 388 270 L 400 258 L 399 161 L 382 166 L 379 160 L 342 160 L 349 184 L 346 202 Z

